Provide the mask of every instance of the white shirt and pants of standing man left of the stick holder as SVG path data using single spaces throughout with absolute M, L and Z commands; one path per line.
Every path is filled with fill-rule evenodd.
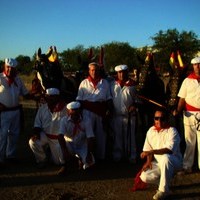
M 94 135 L 96 138 L 96 157 L 100 160 L 105 159 L 106 133 L 104 131 L 102 123 L 103 117 L 101 116 L 101 114 L 99 114 L 99 112 L 101 113 L 102 111 L 104 111 L 104 105 L 109 99 L 111 99 L 111 95 L 110 87 L 107 80 L 101 79 L 95 87 L 88 78 L 84 79 L 80 83 L 76 100 L 87 101 L 86 103 L 89 104 L 96 102 L 99 103 L 99 105 L 93 106 L 94 112 L 88 109 L 84 109 L 83 116 L 84 118 L 88 117 L 91 120 L 92 128 L 94 130 Z

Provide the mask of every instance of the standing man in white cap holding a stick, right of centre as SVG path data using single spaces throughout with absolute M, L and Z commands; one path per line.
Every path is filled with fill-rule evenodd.
M 128 159 L 136 162 L 136 89 L 135 82 L 129 78 L 128 66 L 115 67 L 117 78 L 111 83 L 111 95 L 113 97 L 114 111 L 112 117 L 112 129 L 114 131 L 113 159 L 120 161 Z

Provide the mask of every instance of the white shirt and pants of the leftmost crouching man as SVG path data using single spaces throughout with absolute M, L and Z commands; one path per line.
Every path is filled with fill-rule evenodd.
M 63 164 L 63 155 L 58 142 L 58 134 L 60 128 L 61 118 L 66 116 L 66 107 L 57 112 L 51 112 L 47 104 L 43 104 L 39 107 L 37 115 L 35 117 L 34 127 L 42 129 L 40 133 L 40 139 L 33 141 L 29 140 L 30 148 L 32 149 L 36 162 L 46 161 L 45 147 L 48 145 L 51 150 L 53 162 L 55 164 Z

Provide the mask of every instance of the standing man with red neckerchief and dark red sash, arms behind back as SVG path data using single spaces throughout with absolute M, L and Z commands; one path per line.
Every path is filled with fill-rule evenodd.
M 100 76 L 99 65 L 93 62 L 88 67 L 89 76 L 80 83 L 76 100 L 81 103 L 83 117 L 91 119 L 96 144 L 95 158 L 103 161 L 107 140 L 105 119 L 111 110 L 112 97 L 108 81 Z

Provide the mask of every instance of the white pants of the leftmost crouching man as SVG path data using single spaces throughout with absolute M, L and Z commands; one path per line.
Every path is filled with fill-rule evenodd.
M 29 146 L 35 155 L 37 163 L 45 162 L 47 160 L 45 151 L 45 147 L 47 146 L 50 148 L 53 162 L 57 165 L 64 163 L 63 154 L 58 140 L 48 138 L 44 132 L 40 133 L 39 140 L 33 141 L 30 139 Z

